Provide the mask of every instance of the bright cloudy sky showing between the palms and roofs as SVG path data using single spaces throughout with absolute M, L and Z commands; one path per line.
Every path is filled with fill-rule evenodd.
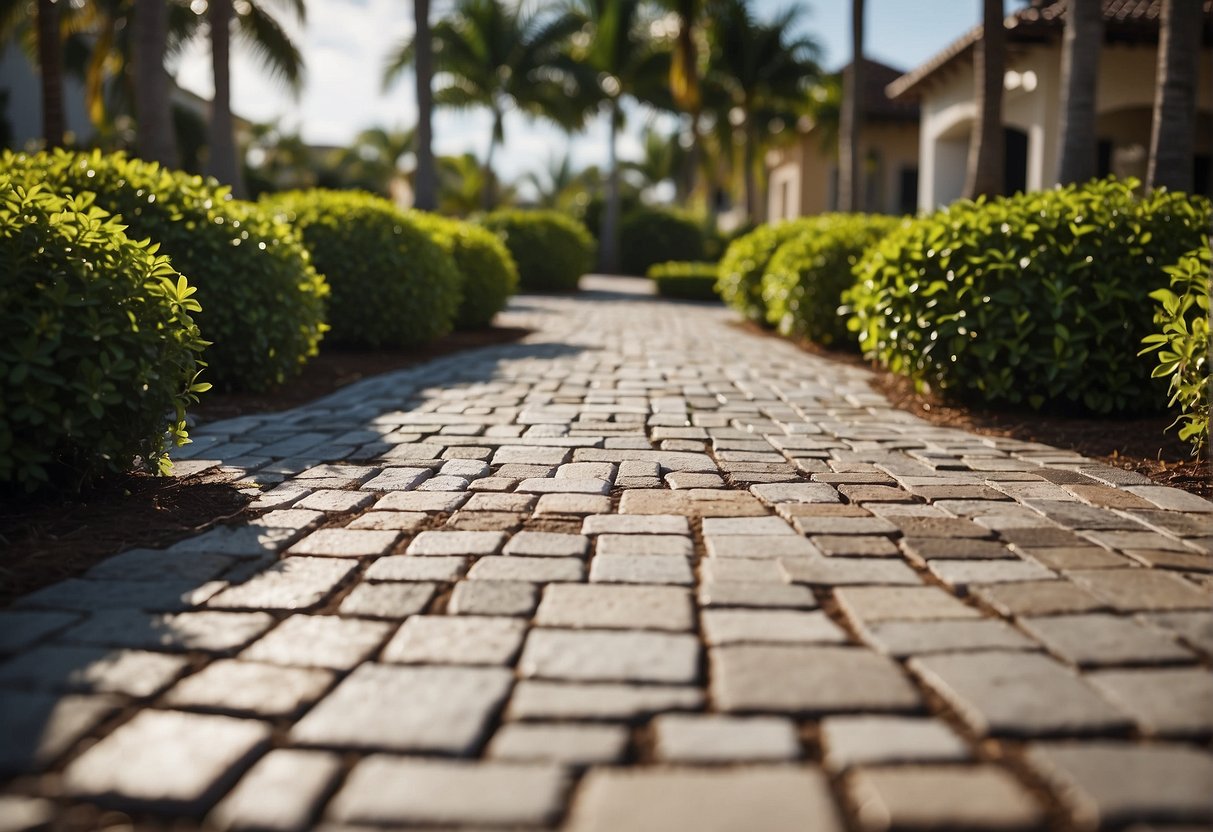
M 771 17 L 799 2 L 807 11 L 804 29 L 821 46 L 821 63 L 837 69 L 850 59 L 848 0 L 754 0 L 759 17 Z M 287 4 L 269 4 L 275 10 Z M 431 19 L 449 0 L 432 4 Z M 911 69 L 945 47 L 978 21 L 976 0 L 867 0 L 865 51 L 870 58 Z M 285 18 L 286 16 L 283 15 Z M 307 67 L 298 97 L 266 76 L 252 56 L 237 45 L 232 67 L 232 99 L 237 114 L 258 122 L 277 122 L 284 132 L 300 132 L 312 144 L 348 144 L 366 127 L 408 127 L 416 119 L 411 75 L 391 90 L 381 84 L 383 63 L 393 46 L 412 32 L 411 0 L 308 0 L 303 27 L 284 19 L 300 45 Z M 195 42 L 176 67 L 178 82 L 211 95 L 210 51 Z M 489 141 L 485 113 L 434 115 L 434 150 L 440 155 L 474 153 L 483 158 Z M 639 156 L 643 118 L 633 118 L 620 143 L 620 156 Z M 668 129 L 668 127 L 666 127 Z M 503 179 L 543 171 L 565 153 L 574 167 L 603 165 L 606 125 L 603 120 L 569 138 L 542 122 L 512 114 L 506 121 L 506 146 L 496 169 Z

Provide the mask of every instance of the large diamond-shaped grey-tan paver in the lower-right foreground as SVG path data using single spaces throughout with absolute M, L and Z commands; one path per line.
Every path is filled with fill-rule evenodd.
M 1064 665 L 1037 653 L 955 653 L 910 668 L 979 736 L 1089 735 L 1128 717 Z

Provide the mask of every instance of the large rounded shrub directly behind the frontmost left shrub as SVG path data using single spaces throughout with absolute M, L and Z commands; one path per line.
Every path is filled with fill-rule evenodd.
M 264 389 L 298 372 L 324 332 L 328 289 L 290 228 L 227 188 L 121 154 L 8 154 L 0 171 L 56 193 L 93 192 L 132 239 L 160 244 L 198 289 L 197 315 L 216 387 Z

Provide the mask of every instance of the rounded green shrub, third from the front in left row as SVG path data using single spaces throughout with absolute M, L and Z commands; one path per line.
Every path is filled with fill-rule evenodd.
M 392 203 L 357 190 L 292 190 L 267 199 L 325 275 L 330 338 L 412 347 L 451 331 L 462 297 L 455 261 Z

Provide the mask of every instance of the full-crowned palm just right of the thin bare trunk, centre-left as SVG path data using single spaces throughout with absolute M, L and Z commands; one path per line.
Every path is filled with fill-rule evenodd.
M 495 203 L 492 159 L 505 141 L 506 113 L 520 110 L 560 126 L 580 124 L 570 107 L 562 61 L 565 41 L 581 22 L 565 11 L 537 10 L 509 0 L 456 0 L 452 13 L 431 29 L 434 57 L 434 104 L 486 108 L 492 131 L 484 159 L 482 205 Z M 416 39 L 403 41 L 389 56 L 385 84 L 393 84 L 417 59 Z

